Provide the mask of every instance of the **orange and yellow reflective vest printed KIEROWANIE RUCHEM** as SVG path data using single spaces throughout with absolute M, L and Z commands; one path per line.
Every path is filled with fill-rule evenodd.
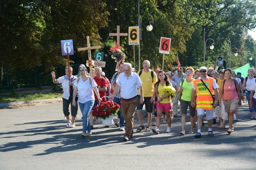
M 213 78 L 210 78 L 209 79 L 205 79 L 204 80 L 204 83 L 205 85 L 207 85 L 207 87 L 210 89 L 210 91 L 212 92 L 213 94 L 213 81 L 214 79 Z M 196 95 L 197 95 L 197 108 L 202 108 L 202 109 L 206 109 L 206 110 L 212 110 L 212 103 L 213 103 L 213 100 L 212 100 L 212 96 L 210 94 L 210 92 L 207 90 L 207 88 L 203 85 L 203 83 L 201 82 L 200 79 L 197 79 L 195 80 L 194 82 L 194 86 L 196 88 Z

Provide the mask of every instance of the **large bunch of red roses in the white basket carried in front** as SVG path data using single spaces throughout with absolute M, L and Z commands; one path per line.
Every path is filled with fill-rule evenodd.
M 96 105 L 93 108 L 93 116 L 97 118 L 106 119 L 109 118 L 110 115 L 116 115 L 117 112 L 120 110 L 120 105 L 114 102 L 105 101 L 100 102 L 100 105 Z

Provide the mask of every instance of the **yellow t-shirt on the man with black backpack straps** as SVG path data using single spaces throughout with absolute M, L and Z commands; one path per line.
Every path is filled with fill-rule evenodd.
M 138 74 L 140 71 L 138 72 Z M 143 88 L 143 97 L 152 97 L 154 92 L 154 84 L 157 82 L 156 73 L 154 72 L 154 80 L 152 82 L 151 77 L 151 70 L 147 73 L 142 70 L 140 75 L 140 80 L 142 81 L 142 88 Z M 140 95 L 140 91 L 138 90 L 138 95 Z

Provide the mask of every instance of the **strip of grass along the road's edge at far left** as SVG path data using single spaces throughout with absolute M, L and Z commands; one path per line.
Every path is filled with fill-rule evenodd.
M 57 99 L 62 98 L 63 92 L 54 92 L 54 93 L 36 93 L 36 94 L 28 94 L 28 95 L 0 95 L 0 103 L 5 102 L 19 102 L 19 101 L 28 101 L 28 100 L 42 100 L 42 99 Z

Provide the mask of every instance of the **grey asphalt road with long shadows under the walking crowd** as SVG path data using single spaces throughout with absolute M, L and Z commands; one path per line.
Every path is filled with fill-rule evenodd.
M 145 113 L 145 112 L 144 112 Z M 144 115 L 143 113 L 143 115 Z M 250 120 L 247 103 L 239 107 L 238 122 L 230 135 L 213 125 L 214 136 L 208 136 L 208 124 L 202 137 L 181 136 L 181 119 L 174 118 L 171 133 L 167 124 L 160 134 L 136 133 L 122 140 L 114 124 L 104 128 L 99 120 L 93 135 L 82 134 L 82 115 L 77 114 L 76 127 L 66 128 L 62 103 L 0 109 L 1 169 L 256 169 L 256 120 Z M 189 116 L 187 115 L 187 118 Z M 154 118 L 153 118 L 154 119 Z M 147 118 L 143 118 L 146 126 Z M 114 117 L 114 122 L 116 117 Z M 153 121 L 152 121 L 153 122 Z M 204 120 L 204 122 L 206 122 Z M 226 125 L 228 127 L 228 124 Z M 194 129 L 195 132 L 197 128 Z

